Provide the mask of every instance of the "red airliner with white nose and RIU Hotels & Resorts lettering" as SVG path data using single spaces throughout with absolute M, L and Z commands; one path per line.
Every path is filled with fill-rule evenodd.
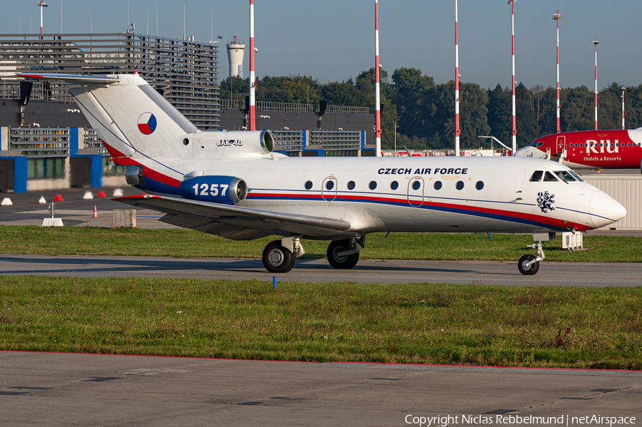
M 546 135 L 516 156 L 558 160 L 573 169 L 642 169 L 642 128 Z

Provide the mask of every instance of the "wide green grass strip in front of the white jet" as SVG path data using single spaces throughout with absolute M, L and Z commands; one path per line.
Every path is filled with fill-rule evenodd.
M 642 288 L 0 277 L 0 349 L 642 369 Z

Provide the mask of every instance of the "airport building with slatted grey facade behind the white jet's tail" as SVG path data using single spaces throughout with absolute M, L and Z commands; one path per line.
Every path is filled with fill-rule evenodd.
M 244 101 L 221 100 L 215 43 L 135 34 L 0 34 L 0 192 L 124 185 L 63 81 L 15 73 L 138 72 L 200 130 L 247 128 Z M 260 93 L 258 94 L 260 99 Z M 291 156 L 374 155 L 367 108 L 256 102 L 257 129 Z

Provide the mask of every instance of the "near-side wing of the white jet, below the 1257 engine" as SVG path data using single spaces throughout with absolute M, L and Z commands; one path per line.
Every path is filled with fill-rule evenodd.
M 273 212 L 238 205 L 199 202 L 178 197 L 135 195 L 117 202 L 165 212 L 161 221 L 232 240 L 252 240 L 269 235 L 326 237 L 350 228 L 350 222 Z

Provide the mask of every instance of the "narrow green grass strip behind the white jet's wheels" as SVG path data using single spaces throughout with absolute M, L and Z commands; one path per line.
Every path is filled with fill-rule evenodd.
M 517 260 L 534 254 L 532 235 L 486 234 L 392 234 L 368 235 L 361 259 L 474 259 Z M 193 230 L 141 230 L 91 227 L 34 227 L 0 225 L 0 253 L 83 254 L 157 257 L 260 258 L 270 240 L 265 237 L 235 242 Z M 325 258 L 327 242 L 305 240 L 304 258 Z M 546 261 L 642 262 L 642 237 L 584 237 L 590 249 L 568 252 L 561 237 L 546 242 Z

